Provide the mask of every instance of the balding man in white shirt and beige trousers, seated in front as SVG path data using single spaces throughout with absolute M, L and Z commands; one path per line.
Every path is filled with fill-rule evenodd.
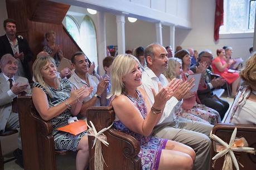
M 145 49 L 145 58 L 147 67 L 142 74 L 142 87 L 153 104 L 152 88 L 158 92 L 158 82 L 163 87 L 168 84 L 166 77 L 162 74 L 167 69 L 167 51 L 160 44 L 151 44 Z M 194 169 L 209 169 L 211 141 L 208 136 L 213 126 L 184 118 L 177 119 L 174 107 L 181 98 L 176 95 L 177 93 L 174 92 L 173 97 L 166 103 L 162 117 L 153 130 L 153 135 L 190 146 L 196 152 Z

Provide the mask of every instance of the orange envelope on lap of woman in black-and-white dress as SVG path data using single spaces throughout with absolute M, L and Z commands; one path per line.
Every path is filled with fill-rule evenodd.
M 74 123 L 67 124 L 66 126 L 57 128 L 57 130 L 78 135 L 87 130 L 87 124 L 85 121 L 79 120 Z

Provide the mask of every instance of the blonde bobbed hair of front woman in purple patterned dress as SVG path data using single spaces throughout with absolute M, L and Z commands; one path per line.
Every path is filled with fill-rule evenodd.
M 122 78 L 131 72 L 136 64 L 139 64 L 139 61 L 131 54 L 120 54 L 115 57 L 112 63 L 111 89 L 108 98 L 124 93 L 125 87 Z

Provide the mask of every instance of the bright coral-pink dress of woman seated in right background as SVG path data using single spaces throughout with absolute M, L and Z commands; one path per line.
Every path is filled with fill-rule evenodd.
M 222 65 L 224 65 L 226 63 L 224 58 L 220 58 L 220 57 L 214 58 L 214 60 L 212 61 L 211 67 L 212 67 L 212 71 L 215 74 L 219 74 L 229 84 L 233 83 L 236 79 L 239 78 L 239 74 L 238 73 L 229 73 L 228 72 L 228 69 L 229 69 L 228 67 L 225 68 L 224 72 L 220 72 L 219 69 L 214 64 L 214 63 L 218 63 L 218 62 L 220 62 Z

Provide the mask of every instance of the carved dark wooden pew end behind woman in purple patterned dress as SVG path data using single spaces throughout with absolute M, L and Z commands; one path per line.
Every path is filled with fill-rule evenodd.
M 87 111 L 87 121 L 93 122 L 96 131 L 110 126 L 115 119 L 112 107 L 90 107 Z M 107 166 L 104 170 L 110 169 L 141 169 L 141 159 L 137 156 L 140 151 L 139 143 L 132 136 L 119 132 L 111 127 L 104 133 L 107 136 L 109 146 L 102 144 L 103 157 Z M 90 170 L 94 169 L 94 137 L 89 136 Z

